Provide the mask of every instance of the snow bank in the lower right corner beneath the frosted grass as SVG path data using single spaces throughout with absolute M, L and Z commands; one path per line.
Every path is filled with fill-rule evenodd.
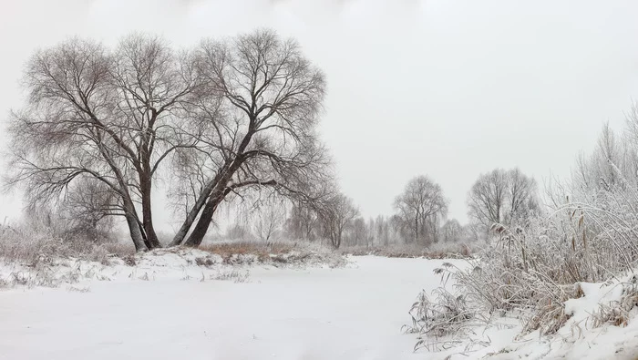
M 638 278 L 578 283 L 581 297 L 564 303 L 569 316 L 556 334 L 520 336 L 515 314 L 476 327 L 472 341 L 435 353 L 433 358 L 635 359 L 638 357 Z M 463 353 L 463 354 L 461 354 Z

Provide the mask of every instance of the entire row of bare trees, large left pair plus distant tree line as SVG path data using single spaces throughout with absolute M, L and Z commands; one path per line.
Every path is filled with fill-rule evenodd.
M 144 34 L 113 48 L 75 37 L 36 51 L 22 85 L 5 186 L 24 190 L 30 221 L 67 222 L 74 236 L 95 240 L 121 219 L 138 251 L 199 246 L 220 209 L 242 203 L 243 223 L 223 236 L 428 246 L 485 240 L 493 224 L 525 226 L 543 211 L 533 178 L 495 169 L 468 190 L 465 225 L 448 219 L 449 201 L 427 174 L 397 191 L 394 215 L 364 219 L 318 135 L 324 73 L 269 29 L 185 49 Z M 162 242 L 160 187 L 180 218 Z

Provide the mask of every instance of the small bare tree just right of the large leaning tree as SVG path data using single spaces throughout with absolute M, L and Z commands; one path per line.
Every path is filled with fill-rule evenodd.
M 359 210 L 355 208 L 350 198 L 338 193 L 324 201 L 319 214 L 324 233 L 330 239 L 333 247 L 339 249 L 344 239 L 345 230 L 359 216 Z

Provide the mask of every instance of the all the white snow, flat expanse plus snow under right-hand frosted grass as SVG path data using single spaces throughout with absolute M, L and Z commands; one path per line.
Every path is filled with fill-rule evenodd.
M 196 265 L 198 258 L 207 265 Z M 435 268 L 466 262 L 363 256 L 342 267 L 275 267 L 240 260 L 232 266 L 188 251 L 139 255 L 136 266 L 0 266 L 0 279 L 21 273 L 58 284 L 0 291 L 0 360 L 638 358 L 638 321 L 591 324 L 598 303 L 620 298 L 618 283 L 582 283 L 585 296 L 566 303 L 573 316 L 555 336 L 520 337 L 516 320 L 500 318 L 476 330 L 474 339 L 485 343 L 464 355 L 463 346 L 414 353 L 417 335 L 401 331 L 410 305 L 420 290 L 440 285 Z M 238 273 L 250 276 L 238 282 Z

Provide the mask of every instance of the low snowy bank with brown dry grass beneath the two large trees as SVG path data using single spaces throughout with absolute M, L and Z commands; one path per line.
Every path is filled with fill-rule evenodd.
M 243 267 L 340 267 L 347 263 L 337 253 L 296 243 L 224 243 L 204 249 L 175 247 L 136 253 L 116 244 L 75 242 L 38 231 L 5 234 L 0 237 L 0 251 L 0 288 L 59 287 L 119 279 L 244 283 L 249 272 Z

